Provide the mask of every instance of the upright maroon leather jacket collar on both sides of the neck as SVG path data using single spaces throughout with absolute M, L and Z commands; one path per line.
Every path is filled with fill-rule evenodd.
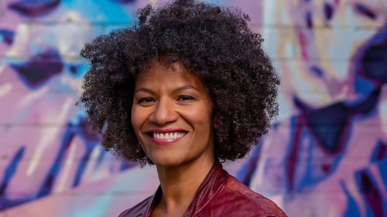
M 185 215 L 185 217 L 194 216 L 200 212 L 226 183 L 229 176 L 230 175 L 225 170 L 223 170 L 222 164 L 218 160 L 215 160 L 211 170 L 208 172 L 203 182 L 201 182 L 197 188 L 194 200 L 188 207 L 186 211 L 187 215 Z M 161 196 L 162 190 L 161 186 L 159 185 L 156 192 L 150 199 L 150 203 L 148 203 L 146 212 L 143 212 L 142 217 L 150 217 L 154 206 L 161 199 Z

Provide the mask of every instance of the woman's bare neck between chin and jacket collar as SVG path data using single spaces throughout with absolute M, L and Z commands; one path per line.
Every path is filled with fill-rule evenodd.
M 160 208 L 166 213 L 177 209 L 184 212 L 214 162 L 215 158 L 206 158 L 173 168 L 156 166 L 163 192 L 158 204 Z

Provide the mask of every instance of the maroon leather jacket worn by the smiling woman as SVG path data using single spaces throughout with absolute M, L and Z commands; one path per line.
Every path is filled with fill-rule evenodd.
M 153 196 L 124 211 L 119 217 L 150 217 L 159 201 L 161 187 Z M 184 217 L 286 217 L 271 200 L 252 191 L 215 162 L 196 191 Z

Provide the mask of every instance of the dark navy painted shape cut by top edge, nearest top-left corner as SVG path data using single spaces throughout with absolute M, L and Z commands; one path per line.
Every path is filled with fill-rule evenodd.
M 8 5 L 8 8 L 27 17 L 38 17 L 53 11 L 61 0 L 20 0 Z

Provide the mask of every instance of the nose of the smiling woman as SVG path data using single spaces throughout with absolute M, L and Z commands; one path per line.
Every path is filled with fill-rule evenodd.
M 179 118 L 175 111 L 174 102 L 171 99 L 162 98 L 158 101 L 155 110 L 149 117 L 149 121 L 159 126 L 174 122 Z

